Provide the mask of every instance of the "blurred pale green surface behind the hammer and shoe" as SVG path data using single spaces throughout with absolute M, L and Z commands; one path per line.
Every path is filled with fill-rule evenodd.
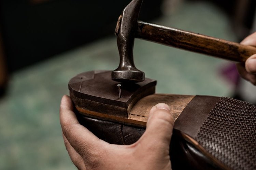
M 240 40 L 228 14 L 212 2 L 167 0 L 161 9 L 163 15 L 151 22 Z M 134 61 L 146 77 L 157 80 L 157 93 L 233 95 L 234 86 L 219 71 L 230 64 L 227 61 L 140 39 L 134 43 Z M 114 70 L 118 64 L 116 37 L 110 35 L 12 71 L 6 94 L 0 98 L 0 169 L 76 169 L 61 136 L 60 99 L 69 94 L 68 82 L 76 74 Z

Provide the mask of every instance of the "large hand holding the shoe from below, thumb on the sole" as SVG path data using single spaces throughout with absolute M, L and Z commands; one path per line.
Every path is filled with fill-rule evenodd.
M 168 105 L 152 107 L 145 133 L 132 145 L 113 145 L 79 124 L 72 101 L 63 96 L 60 124 L 66 149 L 78 169 L 171 169 L 173 115 Z

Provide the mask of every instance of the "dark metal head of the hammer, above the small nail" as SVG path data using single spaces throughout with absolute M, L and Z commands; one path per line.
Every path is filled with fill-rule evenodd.
M 138 27 L 138 16 L 143 0 L 133 0 L 119 17 L 116 35 L 120 63 L 111 74 L 112 80 L 118 82 L 142 82 L 145 73 L 138 70 L 133 62 L 133 44 L 135 31 Z

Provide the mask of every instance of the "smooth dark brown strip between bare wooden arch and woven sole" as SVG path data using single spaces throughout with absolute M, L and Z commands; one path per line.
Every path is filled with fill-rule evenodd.
M 195 96 L 176 119 L 174 129 L 195 138 L 200 126 L 219 99 L 220 97 Z

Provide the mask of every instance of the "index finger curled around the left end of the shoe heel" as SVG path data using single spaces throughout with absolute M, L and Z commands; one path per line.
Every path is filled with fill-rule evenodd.
M 63 96 L 60 104 L 60 124 L 62 132 L 72 148 L 83 157 L 86 166 L 95 166 L 95 158 L 99 159 L 98 162 L 100 162 L 104 145 L 108 143 L 100 140 L 81 125 L 71 107 L 71 99 L 68 96 Z

